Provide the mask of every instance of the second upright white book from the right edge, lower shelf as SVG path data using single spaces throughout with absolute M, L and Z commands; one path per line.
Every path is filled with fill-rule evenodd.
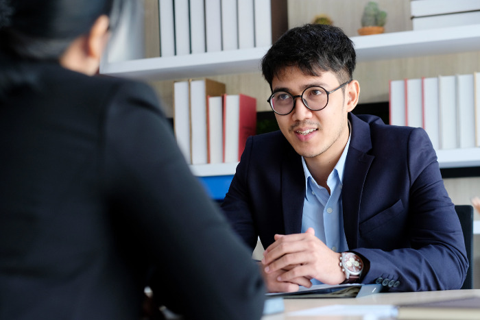
M 473 74 L 457 75 L 457 116 L 459 147 L 475 147 L 475 95 Z

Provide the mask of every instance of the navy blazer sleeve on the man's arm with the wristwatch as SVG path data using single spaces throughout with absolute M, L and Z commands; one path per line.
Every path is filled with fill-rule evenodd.
M 409 195 L 390 208 L 389 214 L 407 212 L 403 219 L 407 219 L 408 231 L 398 236 L 408 238 L 406 242 L 410 246 L 390 251 L 367 247 L 353 249 L 370 262 L 362 282 L 385 281 L 384 285 L 390 284 L 386 288 L 392 291 L 460 288 L 468 269 L 464 238 L 455 207 L 444 188 L 435 151 L 424 130 L 411 131 L 407 162 L 405 175 L 411 184 Z M 382 227 L 372 226 L 373 222 L 368 223 L 371 229 Z

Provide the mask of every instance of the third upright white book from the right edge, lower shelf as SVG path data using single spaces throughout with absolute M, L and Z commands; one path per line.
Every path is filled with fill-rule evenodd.
M 440 149 L 455 149 L 457 145 L 457 80 L 455 75 L 439 75 Z

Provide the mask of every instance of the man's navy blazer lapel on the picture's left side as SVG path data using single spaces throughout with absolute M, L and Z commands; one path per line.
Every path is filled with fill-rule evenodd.
M 302 231 L 305 176 L 302 158 L 285 140 L 285 156 L 282 162 L 281 193 L 285 234 L 298 234 Z

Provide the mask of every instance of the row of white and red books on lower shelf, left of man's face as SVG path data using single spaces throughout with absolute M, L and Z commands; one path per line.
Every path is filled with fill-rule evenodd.
M 256 99 L 212 79 L 173 83 L 173 129 L 189 164 L 238 162 L 256 134 Z

